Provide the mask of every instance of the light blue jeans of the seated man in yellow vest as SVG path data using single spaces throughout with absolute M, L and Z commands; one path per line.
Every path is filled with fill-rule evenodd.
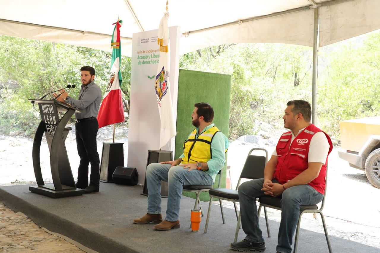
M 212 178 L 204 171 L 184 169 L 181 166 L 151 163 L 146 168 L 148 188 L 148 212 L 161 213 L 161 180 L 168 182 L 168 205 L 166 218 L 168 221 L 179 220 L 179 206 L 182 185 L 212 185 Z

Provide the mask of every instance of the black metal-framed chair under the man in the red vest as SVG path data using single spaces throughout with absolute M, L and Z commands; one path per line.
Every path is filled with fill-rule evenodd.
M 319 213 L 322 218 L 322 224 L 323 224 L 323 229 L 325 230 L 325 236 L 326 236 L 326 241 L 327 241 L 327 247 L 329 248 L 329 252 L 332 253 L 331 250 L 331 245 L 330 245 L 330 240 L 329 240 L 329 235 L 327 233 L 327 227 L 326 227 L 326 222 L 325 222 L 325 217 L 323 216 L 322 209 L 323 206 L 325 205 L 325 198 L 326 198 L 326 191 L 327 191 L 327 166 L 326 166 L 326 187 L 325 187 L 325 194 L 323 195 L 322 199 L 322 204 L 321 207 L 318 209 L 317 205 L 305 205 L 301 206 L 300 213 L 299 213 L 299 219 L 297 223 L 297 228 L 296 228 L 296 237 L 294 238 L 294 250 L 293 253 L 297 252 L 297 246 L 298 246 L 298 234 L 299 234 L 299 225 L 301 224 L 301 217 L 302 214 L 304 213 Z M 259 198 L 260 206 L 258 209 L 258 216 L 260 217 L 260 210 L 261 207 L 264 207 L 264 212 L 266 207 L 270 207 L 273 209 L 277 209 L 281 211 L 281 197 L 272 197 L 272 196 L 264 196 Z M 270 237 L 269 234 L 269 224 L 268 224 L 268 216 L 265 215 L 265 221 L 266 221 L 266 229 L 268 231 L 268 237 Z

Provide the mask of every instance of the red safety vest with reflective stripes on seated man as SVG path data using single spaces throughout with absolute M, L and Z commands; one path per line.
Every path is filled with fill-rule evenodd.
M 317 126 L 310 124 L 301 133 L 299 133 L 296 138 L 294 138 L 293 142 L 291 142 L 290 131 L 282 134 L 276 146 L 278 161 L 273 177 L 277 181 L 284 184 L 309 167 L 309 163 L 307 161 L 309 157 L 309 145 L 311 138 L 317 132 L 323 131 L 317 128 Z M 323 133 L 326 135 L 327 141 L 330 144 L 329 152 L 327 154 L 328 156 L 332 150 L 332 142 L 330 137 L 325 132 Z M 325 164 L 322 165 L 318 177 L 308 183 L 308 185 L 315 188 L 315 190 L 322 194 L 325 194 L 326 187 L 326 164 L 327 157 Z

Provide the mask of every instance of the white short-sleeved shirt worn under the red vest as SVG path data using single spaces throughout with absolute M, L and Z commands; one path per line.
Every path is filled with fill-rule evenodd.
M 299 130 L 298 134 L 301 133 L 301 131 L 304 130 L 305 128 L 302 128 L 301 130 Z M 291 143 L 296 138 L 296 136 L 294 136 L 293 131 L 290 131 L 290 132 L 291 132 L 291 142 L 290 142 L 290 145 L 291 145 Z M 289 145 L 289 148 L 290 148 L 290 145 Z M 327 141 L 326 135 L 323 132 L 315 133 L 310 140 L 309 155 L 308 155 L 307 162 L 325 164 L 327 153 L 329 152 L 329 147 L 330 145 L 329 145 L 329 142 Z M 277 155 L 276 149 L 274 150 L 272 155 Z

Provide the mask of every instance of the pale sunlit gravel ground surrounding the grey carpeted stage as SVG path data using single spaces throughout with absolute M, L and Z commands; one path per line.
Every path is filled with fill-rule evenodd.
M 71 127 L 74 128 L 74 126 Z M 73 133 L 74 131 L 70 131 L 66 140 L 66 147 L 73 176 L 76 178 L 79 157 Z M 125 160 L 128 153 L 127 134 L 128 129 L 117 130 L 116 132 L 116 141 L 124 142 Z M 275 136 L 271 139 L 277 139 L 280 134 L 281 131 L 277 131 L 275 134 L 271 133 L 271 136 Z M 101 140 L 112 141 L 111 126 L 102 128 L 98 134 L 99 155 L 101 155 L 102 148 Z M 264 147 L 268 150 L 270 156 L 274 150 L 273 146 L 267 145 L 270 143 L 260 141 L 259 144 L 251 144 L 238 140 L 230 144 L 228 165 L 231 166 L 230 173 L 233 188 L 236 187 L 237 179 L 249 150 L 253 147 Z M 32 139 L 0 136 L 0 152 L 2 154 L 0 157 L 0 186 L 35 183 L 32 145 Z M 338 149 L 339 147 L 334 147 L 329 156 L 328 189 L 325 208 L 323 209 L 329 235 L 377 247 L 380 251 L 380 219 L 378 218 L 380 217 L 380 189 L 373 187 L 368 182 L 364 171 L 351 168 L 346 161 L 341 160 L 337 154 Z M 43 153 L 49 153 L 46 141 L 41 145 L 41 154 Z M 51 182 L 49 165 L 49 155 L 41 155 L 42 174 L 46 182 Z M 229 173 L 227 173 L 227 176 L 229 176 Z M 217 203 L 215 202 L 215 204 Z M 207 203 L 203 204 L 203 206 L 206 207 Z M 233 208 L 232 203 L 228 201 L 223 201 L 223 206 Z M 280 221 L 280 211 L 268 209 L 268 217 L 271 220 Z M 38 252 L 81 251 L 63 239 L 48 234 L 32 221 L 14 213 L 2 204 L 0 204 L 0 220 L 0 252 L 25 251 L 25 248 L 28 248 L 28 250 L 33 248 Z M 323 233 L 319 215 L 314 218 L 312 214 L 304 214 L 301 228 Z M 266 234 L 265 228 L 263 228 L 263 231 Z M 43 239 L 38 242 L 32 240 L 32 238 Z

